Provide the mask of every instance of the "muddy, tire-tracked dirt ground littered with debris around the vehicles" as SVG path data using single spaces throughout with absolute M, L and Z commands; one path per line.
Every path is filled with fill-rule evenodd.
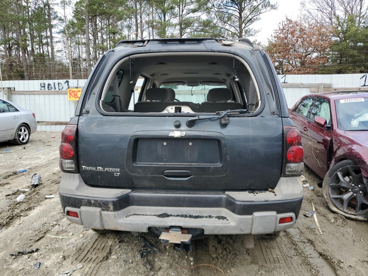
M 195 241 L 195 251 L 188 254 L 151 240 L 160 252 L 141 259 L 142 242 L 131 233 L 98 235 L 64 218 L 57 192 L 59 143 L 60 132 L 36 132 L 25 146 L 0 143 L 1 275 L 62 275 L 78 265 L 82 268 L 72 276 L 368 275 L 368 224 L 330 212 L 317 185 L 321 179 L 309 169 L 304 183 L 314 189 L 304 188 L 301 213 L 312 209 L 312 199 L 322 235 L 313 217 L 300 215 L 292 229 L 276 240 L 255 241 L 254 249 L 244 249 L 237 235 Z M 17 173 L 21 169 L 27 171 Z M 30 181 L 36 172 L 42 178 L 33 188 Z M 19 190 L 24 188 L 30 190 Z M 21 194 L 25 199 L 17 202 Z M 9 255 L 36 248 L 35 253 Z M 38 270 L 33 268 L 37 262 Z

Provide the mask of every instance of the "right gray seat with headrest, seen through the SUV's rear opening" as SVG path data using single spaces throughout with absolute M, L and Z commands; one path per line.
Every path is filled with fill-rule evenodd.
M 201 103 L 202 113 L 215 113 L 216 111 L 243 109 L 241 103 L 228 102 L 231 100 L 229 88 L 212 88 L 208 91 L 207 102 Z

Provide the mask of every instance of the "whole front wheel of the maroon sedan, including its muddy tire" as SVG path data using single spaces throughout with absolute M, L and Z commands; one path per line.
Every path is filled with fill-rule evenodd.
M 341 180 L 340 176 L 345 181 Z M 340 187 L 340 185 L 343 187 Z M 322 189 L 323 196 L 332 212 L 343 215 L 348 219 L 368 221 L 368 180 L 364 180 L 360 168 L 353 161 L 343 160 L 335 164 L 327 172 Z M 353 211 L 354 202 L 355 210 Z M 357 205 L 360 206 L 358 210 L 356 209 Z M 364 209 L 361 208 L 362 206 L 364 206 Z

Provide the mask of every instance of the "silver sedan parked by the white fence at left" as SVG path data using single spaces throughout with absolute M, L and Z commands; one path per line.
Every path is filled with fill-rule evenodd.
M 15 144 L 24 145 L 36 130 L 35 113 L 0 99 L 0 142 L 13 140 Z

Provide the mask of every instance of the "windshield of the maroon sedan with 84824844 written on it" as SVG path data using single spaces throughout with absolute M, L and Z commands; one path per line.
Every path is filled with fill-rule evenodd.
M 335 100 L 340 130 L 368 131 L 368 98 Z

